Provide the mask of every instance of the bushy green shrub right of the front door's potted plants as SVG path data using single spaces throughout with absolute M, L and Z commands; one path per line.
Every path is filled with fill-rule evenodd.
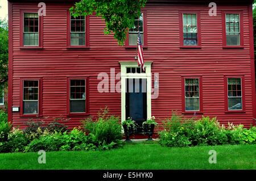
M 159 132 L 159 143 L 167 146 L 223 145 L 229 144 L 233 138 L 233 134 L 228 136 L 227 132 L 216 118 L 203 116 L 195 121 L 174 113 L 164 122 L 164 131 Z

